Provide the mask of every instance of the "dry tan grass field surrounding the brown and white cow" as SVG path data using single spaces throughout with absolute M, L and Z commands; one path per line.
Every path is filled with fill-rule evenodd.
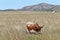
M 28 34 L 26 32 L 28 21 L 44 25 L 41 34 Z M 60 13 L 0 12 L 0 40 L 60 40 Z

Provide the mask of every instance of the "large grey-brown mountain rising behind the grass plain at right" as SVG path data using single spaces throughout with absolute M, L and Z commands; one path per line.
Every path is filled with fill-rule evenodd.
M 60 5 L 40 3 L 36 5 L 25 6 L 21 11 L 60 11 Z

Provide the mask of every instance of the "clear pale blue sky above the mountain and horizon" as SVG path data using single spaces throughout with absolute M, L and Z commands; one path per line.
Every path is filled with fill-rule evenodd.
M 60 0 L 0 0 L 0 10 L 20 9 L 24 6 L 35 5 L 39 3 L 60 5 Z

